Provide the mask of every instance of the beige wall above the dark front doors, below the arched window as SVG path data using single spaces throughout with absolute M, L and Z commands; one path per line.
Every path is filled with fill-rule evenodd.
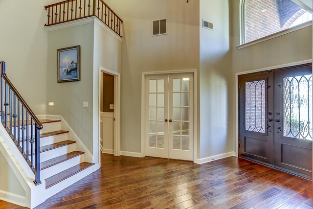
M 271 66 L 312 59 L 312 26 L 253 45 L 237 49 L 240 45 L 240 0 L 231 0 L 232 4 L 232 88 L 233 98 L 230 113 L 235 118 L 235 73 L 261 69 Z M 235 150 L 235 119 L 233 146 Z

